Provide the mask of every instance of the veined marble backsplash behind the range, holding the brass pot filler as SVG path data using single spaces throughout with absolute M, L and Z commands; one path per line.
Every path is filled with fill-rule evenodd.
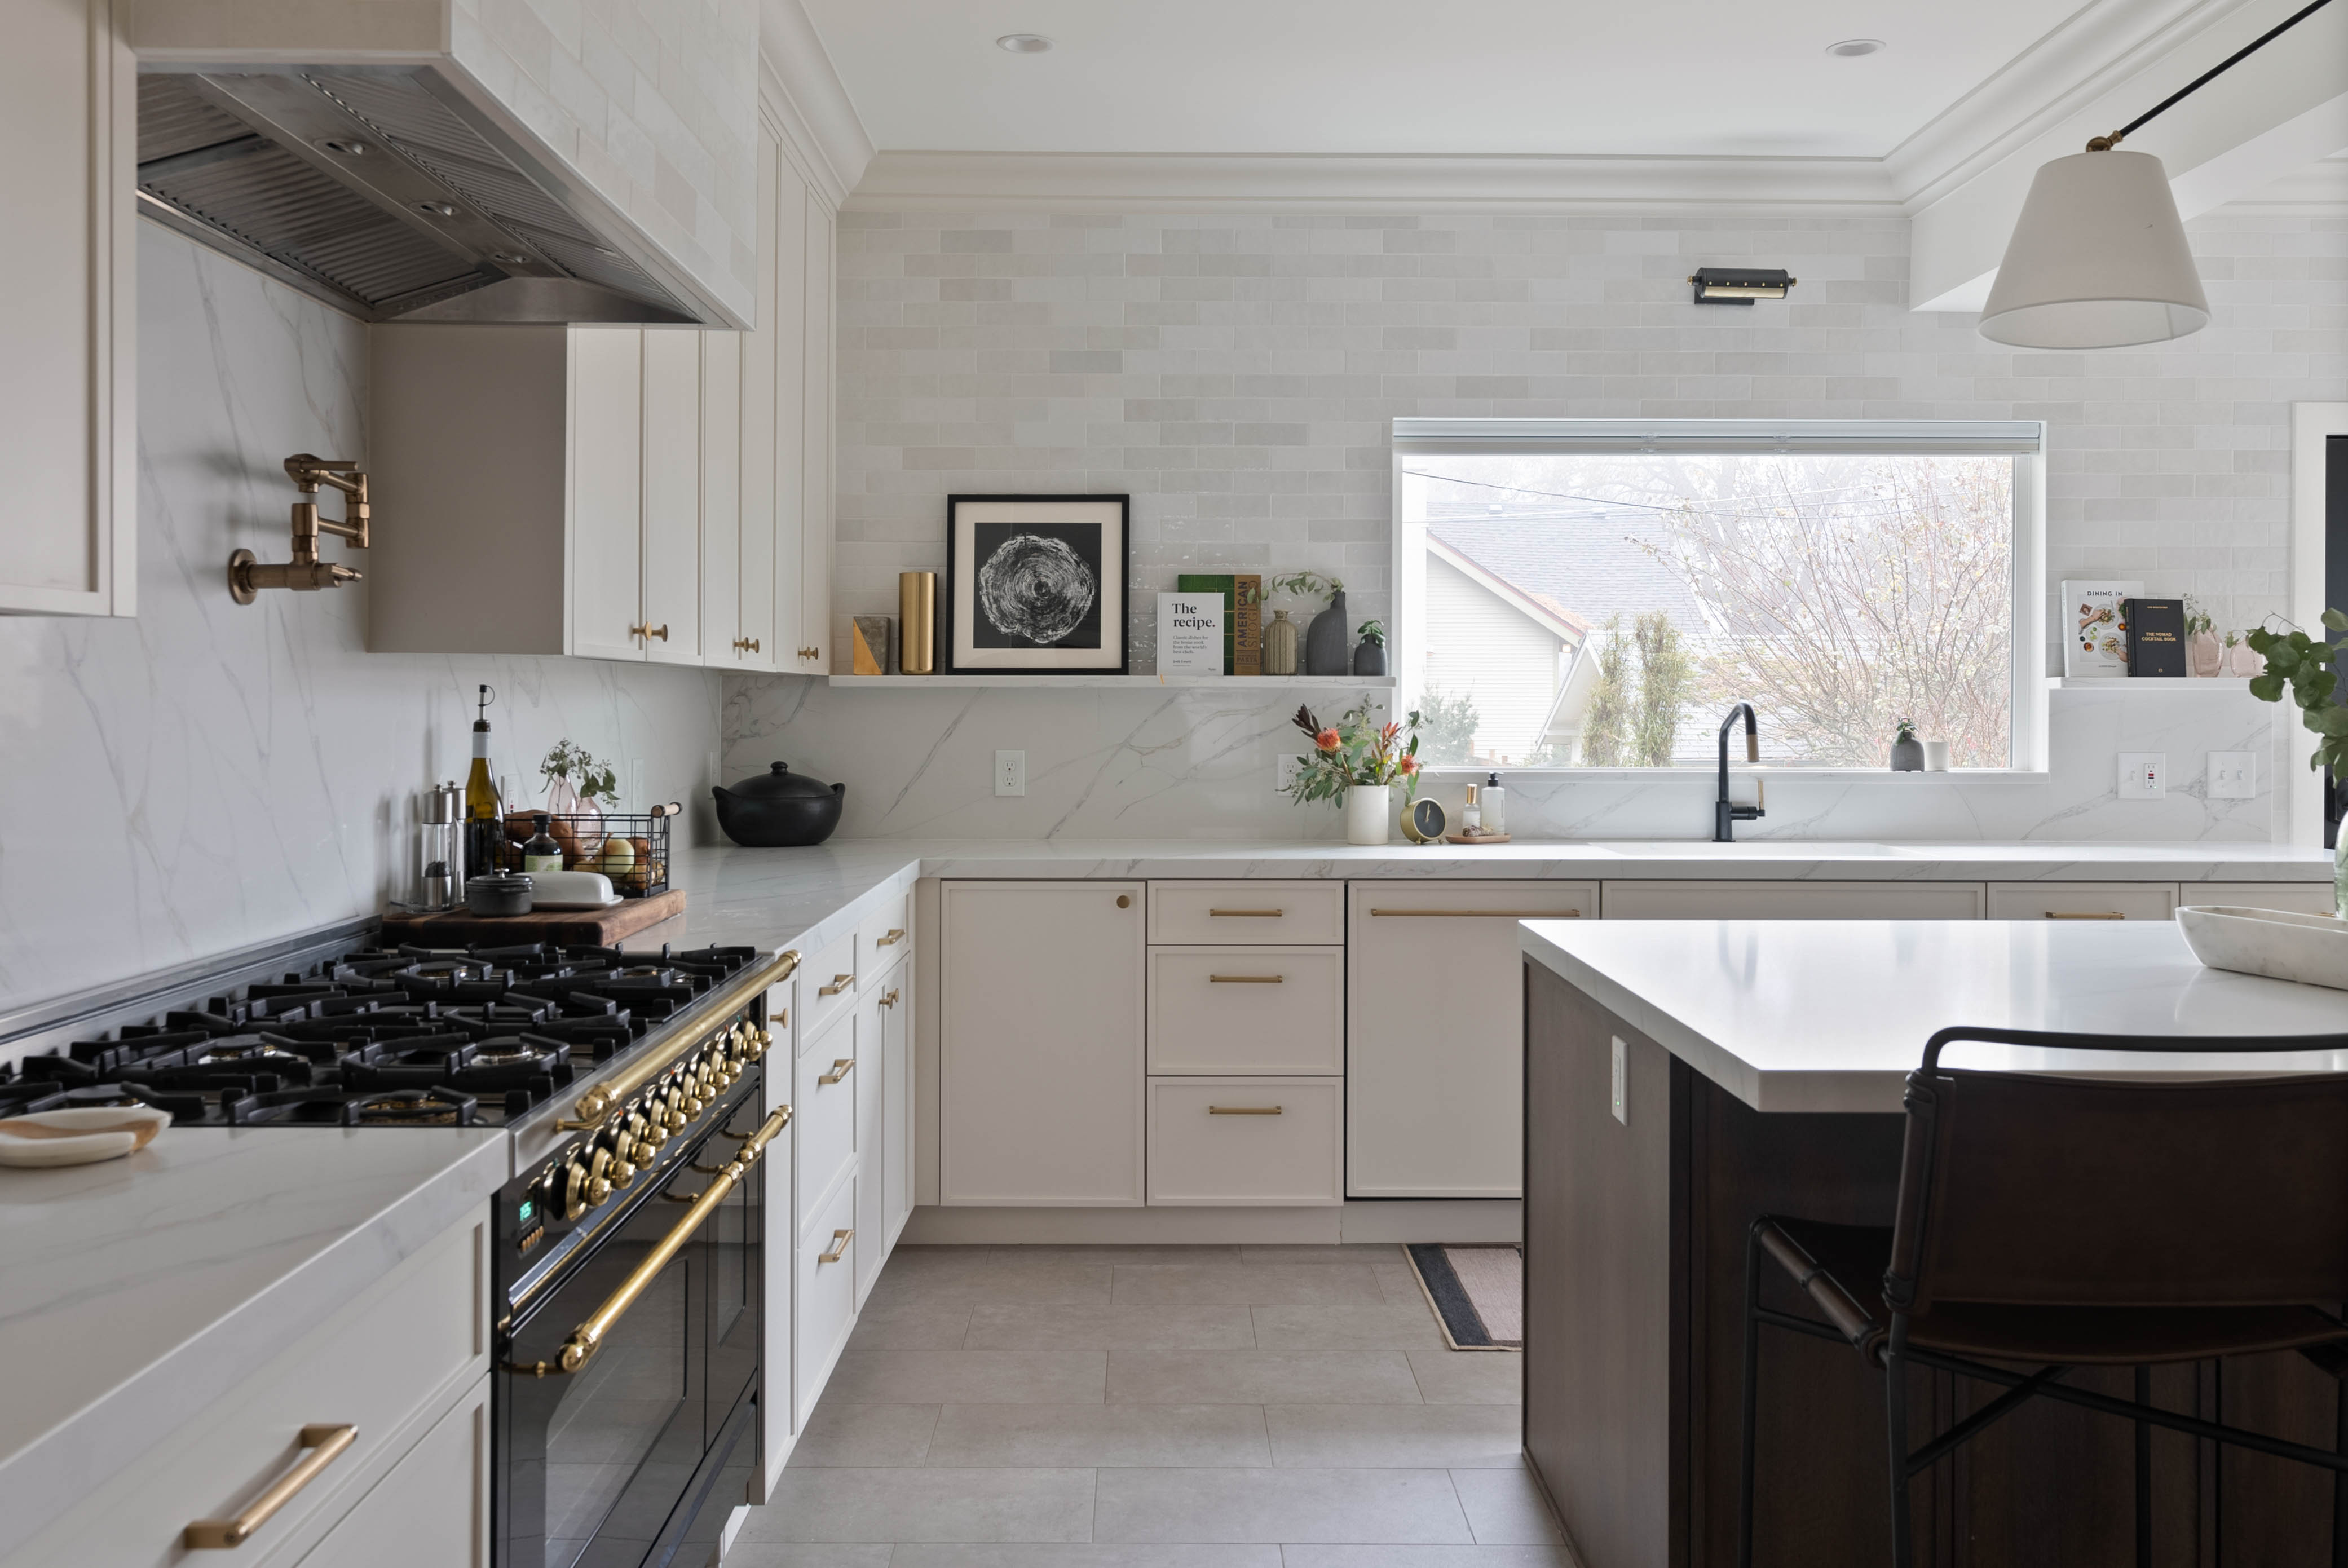
M 364 584 L 230 601 L 230 549 L 286 556 L 284 458 L 366 455 L 364 392 L 359 322 L 139 225 L 139 615 L 0 620 L 0 1012 L 376 913 L 481 681 L 528 798 L 561 737 L 622 786 L 641 758 L 646 798 L 707 793 L 716 676 L 371 655 Z

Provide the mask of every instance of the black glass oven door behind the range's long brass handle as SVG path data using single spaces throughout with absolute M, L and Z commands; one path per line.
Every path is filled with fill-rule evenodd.
M 728 1127 L 756 1129 L 756 1101 Z M 733 1157 L 709 1138 L 672 1164 L 592 1256 L 517 1319 L 505 1357 L 500 1425 L 498 1568 L 641 1568 L 664 1563 L 714 1498 L 700 1474 L 758 1371 L 756 1209 L 763 1171 L 702 1221 L 693 1239 L 603 1336 L 578 1371 L 535 1378 L 514 1366 L 554 1364 L 564 1340 L 686 1218 L 686 1199 Z M 669 1199 L 676 1202 L 669 1202 Z M 740 1495 L 721 1500 L 718 1516 Z

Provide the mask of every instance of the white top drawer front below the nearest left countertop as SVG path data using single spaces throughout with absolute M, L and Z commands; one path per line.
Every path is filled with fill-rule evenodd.
M 394 1462 L 397 1448 L 387 1446 L 418 1411 L 451 1380 L 486 1376 L 481 1232 L 484 1223 L 467 1221 L 402 1261 L 277 1361 L 82 1498 L 9 1556 L 7 1568 L 204 1561 L 214 1554 L 181 1547 L 190 1523 L 235 1519 L 305 1458 L 303 1427 L 357 1427 L 352 1444 L 237 1549 L 254 1563 L 291 1561 L 282 1547 L 315 1540 L 326 1521 L 350 1512 L 364 1481 Z M 413 1444 L 416 1432 L 404 1441 Z M 221 1554 L 221 1561 L 232 1559 Z

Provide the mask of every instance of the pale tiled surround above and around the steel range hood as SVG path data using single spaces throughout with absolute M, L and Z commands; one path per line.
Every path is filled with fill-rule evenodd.
M 136 0 L 146 70 L 430 66 L 709 326 L 756 307 L 758 0 Z

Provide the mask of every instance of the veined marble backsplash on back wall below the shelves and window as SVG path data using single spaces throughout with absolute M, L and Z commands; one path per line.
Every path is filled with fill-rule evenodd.
M 1313 692 L 1317 711 L 1350 697 Z M 1740 838 L 2240 840 L 2280 838 L 2273 709 L 2240 692 L 2047 692 L 2047 770 L 2015 775 L 1773 775 L 1768 817 Z M 1301 749 L 1296 697 L 1200 688 L 831 688 L 726 676 L 726 777 L 784 761 L 848 784 L 845 838 L 1336 840 L 1331 805 L 1275 793 Z M 1768 714 L 1761 716 L 1763 725 Z M 993 793 L 996 751 L 1026 751 L 1026 796 Z M 2163 800 L 2118 798 L 2118 753 L 2163 751 Z M 2207 751 L 2252 751 L 2256 796 L 2209 800 Z M 1439 772 L 1458 803 L 1484 770 Z M 1714 775 L 1510 772 L 1512 838 L 1709 838 Z M 1747 784 L 1738 798 L 1749 798 Z

